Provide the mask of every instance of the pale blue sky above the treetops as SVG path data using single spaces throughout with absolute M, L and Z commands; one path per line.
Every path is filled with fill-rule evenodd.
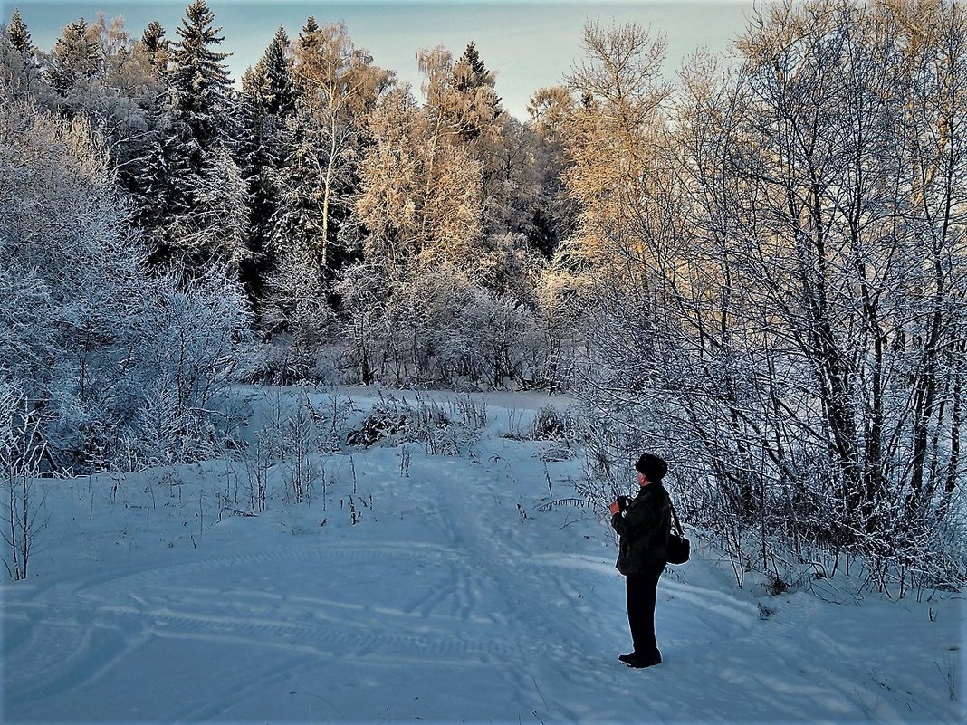
M 174 39 L 188 0 L 98 2 L 97 0 L 4 0 L 3 22 L 20 9 L 35 44 L 49 50 L 61 29 L 84 17 L 123 16 L 132 36 L 139 37 L 151 20 L 159 20 Z M 453 2 L 447 0 L 209 0 L 216 24 L 223 28 L 221 49 L 232 53 L 228 65 L 238 80 L 261 57 L 276 29 L 283 25 L 295 38 L 308 15 L 320 24 L 344 21 L 357 46 L 368 50 L 377 65 L 396 71 L 419 95 L 419 49 L 442 44 L 454 56 L 469 41 L 477 43 L 487 68 L 497 74 L 497 93 L 507 109 L 526 118 L 531 94 L 560 83 L 581 56 L 581 28 L 588 19 L 602 24 L 635 22 L 668 40 L 666 74 L 699 47 L 720 52 L 745 28 L 752 0 L 624 0 L 614 2 Z

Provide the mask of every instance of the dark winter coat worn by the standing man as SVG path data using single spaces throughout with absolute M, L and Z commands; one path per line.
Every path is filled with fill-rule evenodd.
M 611 516 L 621 536 L 618 563 L 625 576 L 659 576 L 668 564 L 671 501 L 660 483 L 642 486 L 624 511 Z

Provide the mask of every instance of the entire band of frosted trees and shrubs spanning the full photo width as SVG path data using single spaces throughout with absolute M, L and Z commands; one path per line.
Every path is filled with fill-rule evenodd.
M 671 85 L 663 43 L 589 23 L 585 59 L 522 123 L 472 43 L 421 52 L 418 100 L 309 18 L 236 91 L 204 2 L 174 39 L 78 21 L 49 53 L 14 14 L 0 213 L 28 261 L 0 308 L 55 324 L 2 341 L 5 375 L 60 396 L 65 420 L 124 391 L 126 427 L 80 436 L 114 450 L 185 440 L 229 372 L 568 387 L 601 498 L 658 450 L 738 577 L 780 588 L 860 557 L 881 588 L 959 586 L 965 28 L 952 0 L 782 2 L 734 64 L 696 55 Z M 73 190 L 44 196 L 16 156 L 38 145 Z M 129 303 L 176 333 L 125 329 Z M 195 341 L 215 304 L 234 311 Z M 246 332 L 258 355 L 238 354 Z

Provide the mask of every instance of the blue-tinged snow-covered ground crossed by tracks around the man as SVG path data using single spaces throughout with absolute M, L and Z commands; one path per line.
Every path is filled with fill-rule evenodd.
M 257 516 L 220 505 L 248 507 L 225 461 L 45 481 L 30 577 L 0 589 L 0 719 L 964 721 L 960 595 L 773 598 L 698 542 L 659 585 L 665 662 L 618 662 L 609 530 L 586 508 L 541 510 L 573 495 L 580 457 L 545 473 L 550 444 L 500 435 L 544 402 L 490 397 L 463 455 L 314 456 L 325 499 L 318 477 L 309 503 L 274 484 Z

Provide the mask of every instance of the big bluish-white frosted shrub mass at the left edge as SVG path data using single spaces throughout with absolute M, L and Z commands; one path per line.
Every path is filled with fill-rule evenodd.
M 149 275 L 130 214 L 83 116 L 0 101 L 0 377 L 43 409 L 48 468 L 171 448 L 146 427 L 211 437 L 244 296 L 217 273 Z

